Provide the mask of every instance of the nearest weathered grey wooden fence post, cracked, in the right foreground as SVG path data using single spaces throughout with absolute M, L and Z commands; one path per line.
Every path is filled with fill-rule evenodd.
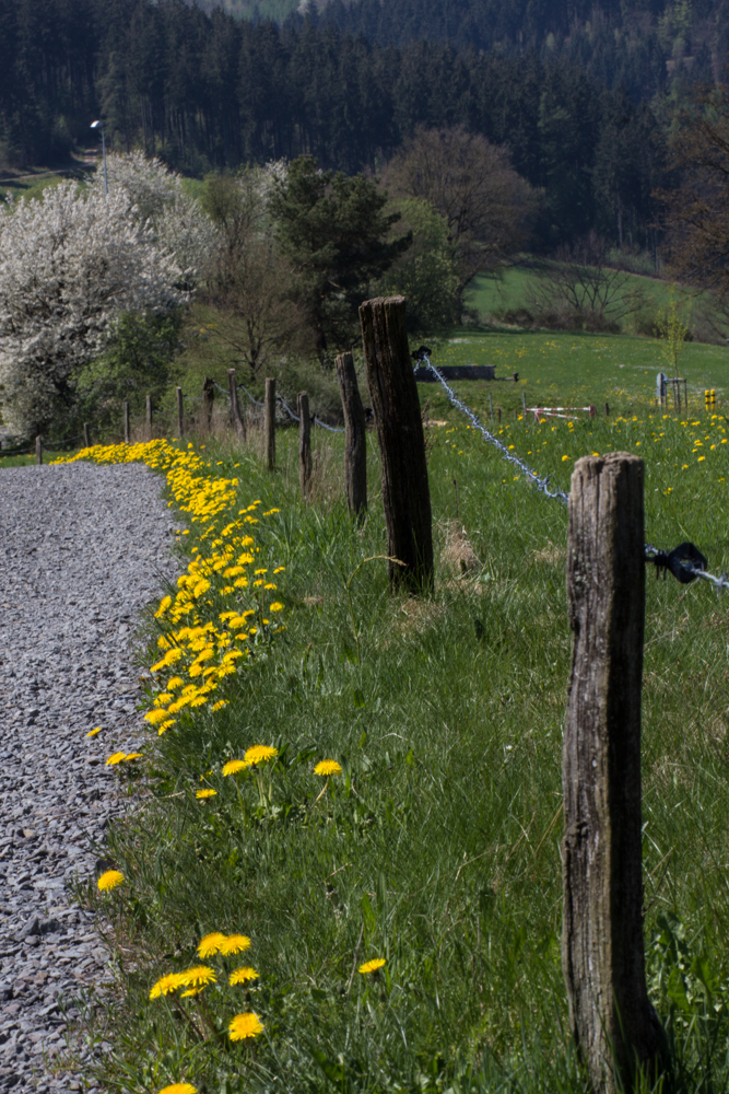
M 562 968 L 593 1091 L 661 1072 L 663 1032 L 643 945 L 640 687 L 644 465 L 611 453 L 572 477 L 567 596 L 574 635 L 562 758 Z

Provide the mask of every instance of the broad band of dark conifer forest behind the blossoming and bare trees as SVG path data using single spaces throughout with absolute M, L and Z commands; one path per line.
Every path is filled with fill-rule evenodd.
M 58 160 L 97 116 L 116 148 L 195 174 L 299 153 L 377 171 L 416 127 L 462 125 L 544 191 L 545 246 L 591 230 L 646 246 L 661 162 L 651 110 L 564 59 L 380 46 L 181 0 L 4 0 L 1 159 Z

